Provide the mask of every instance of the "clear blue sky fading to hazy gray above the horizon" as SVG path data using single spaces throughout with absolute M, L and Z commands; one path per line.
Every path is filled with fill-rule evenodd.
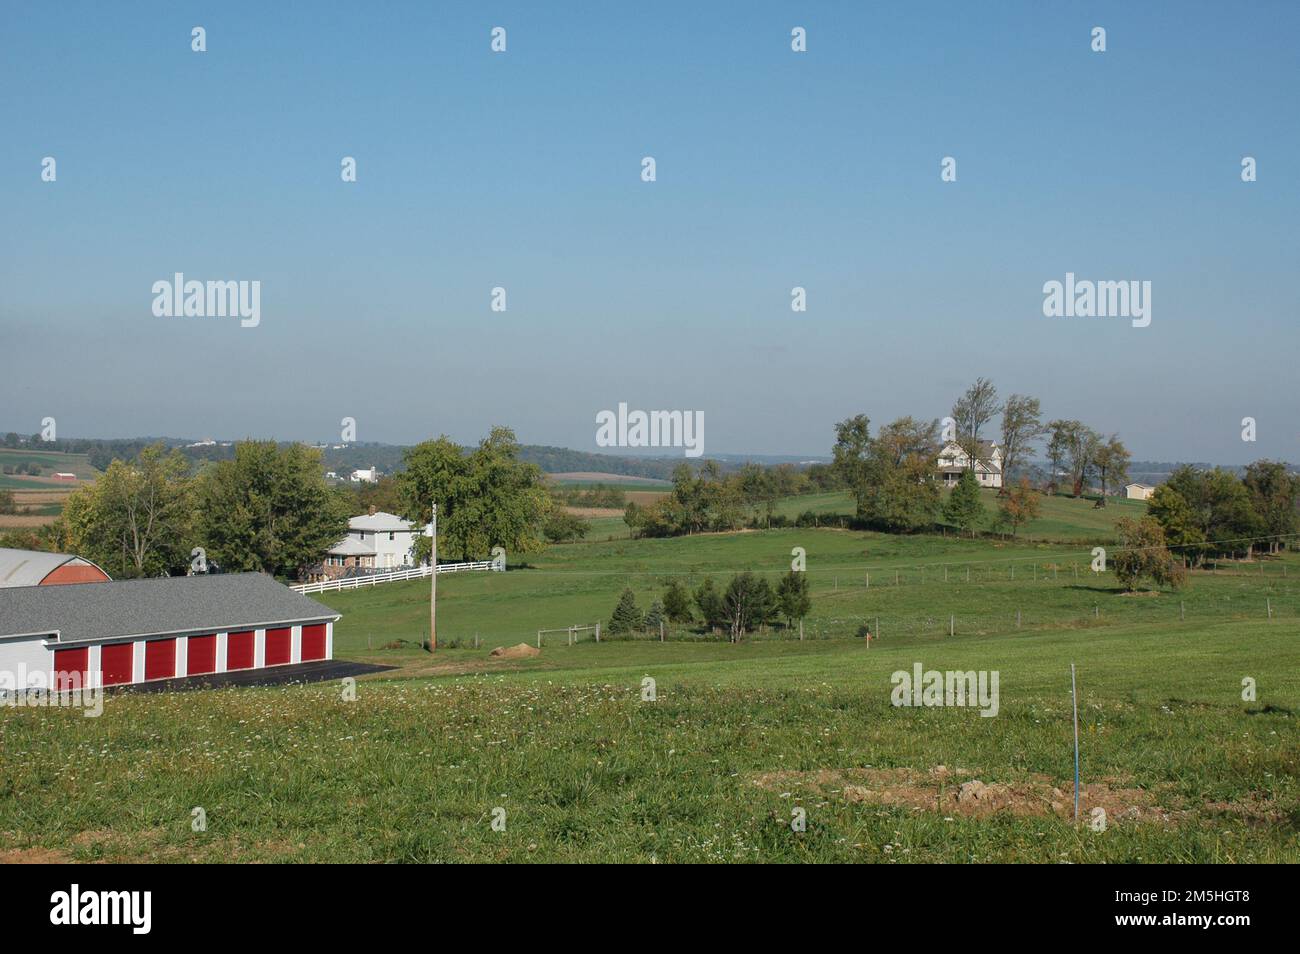
M 350 416 L 594 450 L 627 402 L 703 412 L 706 454 L 811 455 L 983 374 L 1138 458 L 1296 460 L 1297 27 L 1292 3 L 6 4 L 0 429 Z M 260 281 L 261 324 L 155 317 L 174 272 Z M 1150 281 L 1150 326 L 1044 317 L 1066 272 Z

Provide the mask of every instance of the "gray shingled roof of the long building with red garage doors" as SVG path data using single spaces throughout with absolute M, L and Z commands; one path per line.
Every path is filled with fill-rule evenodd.
M 58 630 L 60 642 L 214 633 L 338 617 L 324 603 L 264 573 L 0 587 L 0 636 Z

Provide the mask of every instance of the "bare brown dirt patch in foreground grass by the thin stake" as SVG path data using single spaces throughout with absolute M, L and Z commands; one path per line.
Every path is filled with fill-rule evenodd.
M 838 795 L 849 802 L 888 805 L 944 815 L 988 818 L 997 812 L 1019 816 L 1056 815 L 1074 818 L 1074 786 L 1057 784 L 1045 775 L 1031 775 L 1014 782 L 984 782 L 971 779 L 967 769 L 936 766 L 928 772 L 911 768 L 850 768 L 815 772 L 770 772 L 755 782 L 768 790 L 798 788 L 818 795 Z M 1108 821 L 1179 820 L 1186 812 L 1156 805 L 1150 792 L 1117 788 L 1109 782 L 1089 782 L 1079 792 L 1079 818 L 1087 820 L 1093 808 L 1104 808 Z

